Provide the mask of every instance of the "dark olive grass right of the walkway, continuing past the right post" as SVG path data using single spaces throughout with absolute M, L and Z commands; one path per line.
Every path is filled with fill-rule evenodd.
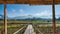
M 53 34 L 53 27 L 37 27 L 43 34 Z M 60 34 L 60 26 L 56 27 L 56 34 Z

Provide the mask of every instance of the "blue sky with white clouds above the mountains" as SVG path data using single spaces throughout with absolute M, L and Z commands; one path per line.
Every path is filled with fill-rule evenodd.
M 60 5 L 55 5 L 56 18 L 60 17 Z M 28 16 L 52 18 L 52 5 L 7 4 L 7 16 Z M 0 14 L 4 14 L 4 5 L 0 4 Z

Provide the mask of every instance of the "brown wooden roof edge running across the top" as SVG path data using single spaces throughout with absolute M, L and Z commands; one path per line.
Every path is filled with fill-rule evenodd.
M 6 0 L 7 4 L 33 4 L 33 5 L 52 5 L 53 0 Z M 3 4 L 4 0 L 0 0 Z M 56 0 L 55 4 L 60 4 L 60 0 Z

